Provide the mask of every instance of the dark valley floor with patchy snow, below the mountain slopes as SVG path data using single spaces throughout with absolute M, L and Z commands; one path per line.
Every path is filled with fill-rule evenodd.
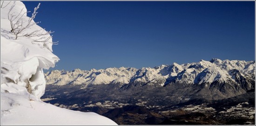
M 95 112 L 118 125 L 255 125 L 254 90 L 222 100 L 178 98 L 181 102 L 175 105 L 154 105 L 150 99 L 130 103 L 118 99 L 102 101 L 93 95 L 89 101 L 64 101 L 63 94 L 69 96 L 68 92 L 54 95 L 48 90 L 42 101 L 71 110 Z

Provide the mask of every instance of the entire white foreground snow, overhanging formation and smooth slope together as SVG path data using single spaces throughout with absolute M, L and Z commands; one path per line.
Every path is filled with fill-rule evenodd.
M 20 16 L 24 22 L 29 17 L 22 2 L 8 3 L 1 1 L 1 125 L 116 125 L 96 113 L 72 111 L 40 100 L 46 86 L 43 69 L 54 67 L 59 58 L 52 53 L 51 38 L 44 43 L 32 43 L 32 39 L 39 39 L 36 37 L 15 39 L 8 20 L 11 6 L 15 4 L 9 14 L 24 13 Z M 47 32 L 33 25 L 24 33 L 35 30 Z

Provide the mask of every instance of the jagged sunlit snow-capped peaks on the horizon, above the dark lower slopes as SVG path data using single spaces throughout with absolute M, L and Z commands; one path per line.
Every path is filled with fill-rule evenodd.
M 154 68 L 108 68 L 72 71 L 52 70 L 45 74 L 47 84 L 52 85 L 88 85 L 120 84 L 120 87 L 133 84 L 134 86 L 155 85 L 166 86 L 172 83 L 187 85 L 213 82 L 229 83 L 233 87 L 249 90 L 251 81 L 255 80 L 255 61 L 201 60 L 198 63 L 161 65 Z

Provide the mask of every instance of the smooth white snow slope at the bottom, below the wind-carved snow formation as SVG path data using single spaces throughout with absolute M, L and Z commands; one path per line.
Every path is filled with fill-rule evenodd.
M 1 125 L 113 126 L 116 123 L 97 113 L 84 113 L 47 104 L 33 95 L 4 93 L 1 94 Z

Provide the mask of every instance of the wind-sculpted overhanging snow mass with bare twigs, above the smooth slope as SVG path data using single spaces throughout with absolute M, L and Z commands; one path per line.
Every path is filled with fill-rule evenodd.
M 55 63 L 59 61 L 59 58 L 52 53 L 51 38 L 49 42 L 38 42 L 36 44 L 32 43 L 33 40 L 31 38 L 24 36 L 15 39 L 15 35 L 11 32 L 8 13 L 18 15 L 22 8 L 22 13 L 25 13 L 27 9 L 20 1 L 11 1 L 9 4 L 8 3 L 9 2 L 3 2 L 2 4 L 4 4 L 3 6 L 5 7 L 1 8 L 1 71 L 3 71 L 1 73 L 1 85 L 7 82 L 14 82 L 22 87 L 29 86 L 29 92 L 40 98 L 44 94 L 46 85 L 43 69 L 54 67 Z M 13 10 L 10 11 L 13 5 Z M 26 13 L 19 18 L 23 21 L 29 20 Z M 32 32 L 35 30 L 46 32 L 36 24 L 32 25 L 24 32 Z M 49 34 L 42 36 L 46 38 L 50 37 Z M 8 91 L 2 87 L 1 89 Z

